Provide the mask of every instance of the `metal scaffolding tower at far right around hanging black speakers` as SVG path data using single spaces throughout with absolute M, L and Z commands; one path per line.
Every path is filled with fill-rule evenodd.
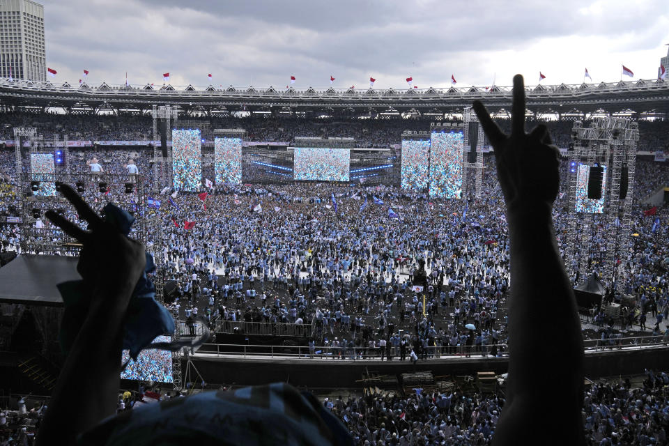
M 623 260 L 632 247 L 631 207 L 638 123 L 627 118 L 605 117 L 595 118 L 589 128 L 584 128 L 581 121 L 576 121 L 571 137 L 574 148 L 570 147 L 568 151 L 569 208 L 565 265 L 570 277 L 578 277 L 576 282 L 585 281 L 590 272 L 597 269 L 605 286 L 622 293 L 629 273 L 623 267 Z M 596 163 L 606 166 L 603 213 L 578 213 L 578 167 L 580 164 L 592 167 Z M 627 192 L 621 197 L 624 176 Z M 598 251 L 594 250 L 594 238 L 603 240 L 603 250 L 601 247 Z M 599 268 L 594 268 L 595 263 L 599 263 Z

